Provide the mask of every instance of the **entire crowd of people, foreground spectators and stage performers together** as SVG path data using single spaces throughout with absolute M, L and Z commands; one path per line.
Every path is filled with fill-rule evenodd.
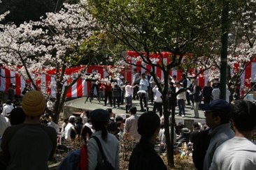
M 114 81 L 112 85 L 106 82 L 99 86 L 95 83 L 99 89 L 104 89 L 104 105 L 108 101 L 113 108 L 120 107 L 125 99 L 129 118 L 114 116 L 113 108 L 95 109 L 90 113 L 83 111 L 80 115 L 64 118 L 60 137 L 50 125 L 54 98 L 47 102 L 40 91 L 27 91 L 22 102 L 14 105 L 15 95 L 10 89 L 10 96 L 0 115 L 0 169 L 48 169 L 47 162 L 55 155 L 57 144 L 72 146 L 78 136 L 87 145 L 87 169 L 101 168 L 103 159 L 114 169 L 120 169 L 118 141 L 125 138 L 137 142 L 129 158 L 129 169 L 167 169 L 159 156 L 167 147 L 161 98 L 164 86 L 156 86 L 154 81 L 159 79 L 152 79 L 146 72 L 139 75 L 136 69 L 133 78 L 132 82 L 122 78 L 120 84 Z M 239 98 L 230 105 L 218 98 L 218 82 L 214 87 L 208 82 L 201 89 L 196 77 L 190 82 L 185 74 L 180 81 L 174 75 L 169 78 L 168 102 L 171 105 L 173 102 L 170 100 L 176 100 L 177 116 L 185 117 L 184 107 L 187 104 L 194 109 L 195 118 L 199 117 L 199 109 L 206 117 L 206 128 L 197 122 L 193 123 L 193 130 L 183 123 L 177 123 L 173 132 L 170 127 L 169 132 L 174 137 L 171 144 L 177 147 L 187 144 L 192 148 L 197 169 L 256 169 L 256 145 L 252 141 L 256 105 Z M 175 99 L 171 98 L 182 88 L 187 90 Z M 109 92 L 107 95 L 106 91 Z M 141 116 L 137 115 L 138 110 L 132 105 L 132 100 L 140 100 Z M 148 110 L 150 104 L 153 105 L 152 111 Z M 159 154 L 155 152 L 157 141 Z

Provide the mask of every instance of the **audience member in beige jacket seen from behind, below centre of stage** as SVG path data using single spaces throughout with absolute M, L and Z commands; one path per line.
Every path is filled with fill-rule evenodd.
M 129 109 L 130 117 L 126 119 L 125 121 L 125 134 L 129 134 L 129 137 L 132 139 L 140 139 L 141 135 L 138 134 L 138 116 L 136 115 L 137 108 L 131 107 Z

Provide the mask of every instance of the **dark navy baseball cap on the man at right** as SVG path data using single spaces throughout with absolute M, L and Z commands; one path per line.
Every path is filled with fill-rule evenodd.
M 213 114 L 225 119 L 230 116 L 230 105 L 222 99 L 216 99 L 211 104 L 199 104 L 199 108 L 204 111 L 213 111 Z

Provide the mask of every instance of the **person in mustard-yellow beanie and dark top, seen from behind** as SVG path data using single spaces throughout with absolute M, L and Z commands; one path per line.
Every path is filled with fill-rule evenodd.
M 45 104 L 40 91 L 29 91 L 22 98 L 24 123 L 3 132 L 0 161 L 7 169 L 48 169 L 48 160 L 56 150 L 57 134 L 53 127 L 40 123 Z

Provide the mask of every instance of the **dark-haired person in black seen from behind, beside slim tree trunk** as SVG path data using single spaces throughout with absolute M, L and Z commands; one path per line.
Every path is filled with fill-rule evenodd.
M 166 170 L 166 165 L 155 152 L 155 141 L 160 130 L 160 118 L 153 111 L 148 111 L 138 118 L 138 133 L 141 139 L 131 153 L 129 169 Z

